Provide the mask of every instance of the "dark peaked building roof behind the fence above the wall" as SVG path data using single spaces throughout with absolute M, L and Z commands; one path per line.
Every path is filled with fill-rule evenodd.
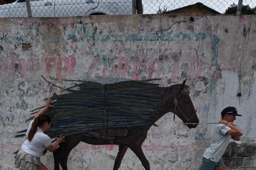
M 212 8 L 204 5 L 203 3 L 199 3 L 199 2 L 196 4 L 193 4 L 193 5 L 184 6 L 184 7 L 177 8 L 175 10 L 167 11 L 164 13 L 182 13 L 182 11 L 191 10 L 193 8 L 197 8 L 199 10 L 205 11 L 206 13 L 210 13 L 210 14 L 221 14 L 218 11 L 215 11 Z M 188 12 L 185 12 L 185 13 L 188 13 Z M 190 13 L 197 13 L 197 12 L 190 11 Z

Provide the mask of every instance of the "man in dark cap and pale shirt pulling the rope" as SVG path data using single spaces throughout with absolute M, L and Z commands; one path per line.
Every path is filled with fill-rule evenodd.
M 224 154 L 228 147 L 230 138 L 236 141 L 240 140 L 243 133 L 233 125 L 236 120 L 237 114 L 235 107 L 226 107 L 221 112 L 222 120 L 215 127 L 214 139 L 209 148 L 207 148 L 203 155 L 203 163 L 199 170 L 226 170 L 227 166 L 223 164 L 221 156 Z

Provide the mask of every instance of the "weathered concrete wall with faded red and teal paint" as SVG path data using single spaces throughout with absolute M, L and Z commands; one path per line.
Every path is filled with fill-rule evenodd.
M 63 93 L 53 84 L 67 88 L 79 80 L 161 78 L 162 86 L 170 86 L 188 79 L 199 121 L 218 122 L 223 108 L 235 106 L 243 115 L 235 124 L 247 135 L 242 142 L 248 145 L 230 147 L 238 153 L 255 149 L 255 25 L 252 15 L 1 18 L 0 169 L 14 169 L 12 153 L 24 141 L 14 134 L 27 128 L 29 111 L 44 105 L 44 98 Z M 215 125 L 188 129 L 177 117 L 173 122 L 172 113 L 156 124 L 142 146 L 151 169 L 198 169 Z M 118 146 L 79 143 L 68 168 L 112 169 L 117 151 Z M 248 164 L 237 169 L 255 169 L 255 154 L 246 157 Z M 53 169 L 52 153 L 41 159 Z M 120 169 L 143 167 L 128 150 Z

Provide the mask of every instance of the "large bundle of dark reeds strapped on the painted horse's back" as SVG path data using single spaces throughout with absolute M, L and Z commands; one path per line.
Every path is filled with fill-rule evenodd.
M 65 89 L 67 94 L 53 96 L 54 107 L 45 114 L 52 118 L 51 138 L 60 134 L 88 134 L 109 129 L 139 129 L 154 124 L 166 89 L 150 80 L 111 84 L 82 82 Z M 42 107 L 41 107 L 42 108 Z M 33 114 L 40 108 L 36 108 Z

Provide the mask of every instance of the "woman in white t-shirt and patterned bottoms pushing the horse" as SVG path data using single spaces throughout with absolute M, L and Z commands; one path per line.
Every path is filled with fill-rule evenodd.
M 18 153 L 15 155 L 15 167 L 22 170 L 48 170 L 44 164 L 41 163 L 40 157 L 45 148 L 50 152 L 57 149 L 59 143 L 64 142 L 65 136 L 57 138 L 57 141 L 52 145 L 51 139 L 48 135 L 44 134 L 48 131 L 52 124 L 51 118 L 44 113 L 51 105 L 51 99 L 47 99 L 46 106 L 42 108 L 33 120 L 29 123 L 26 132 L 26 141 L 21 146 Z

